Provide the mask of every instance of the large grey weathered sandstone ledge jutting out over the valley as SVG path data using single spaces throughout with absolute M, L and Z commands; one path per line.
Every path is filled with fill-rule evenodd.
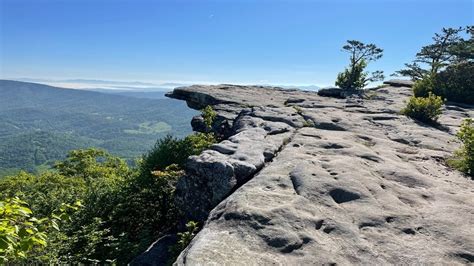
M 399 111 L 406 83 L 369 99 L 260 86 L 190 86 L 227 139 L 190 158 L 181 206 L 203 229 L 189 265 L 463 264 L 474 261 L 474 183 L 443 158 L 474 109 L 446 106 L 444 130 Z

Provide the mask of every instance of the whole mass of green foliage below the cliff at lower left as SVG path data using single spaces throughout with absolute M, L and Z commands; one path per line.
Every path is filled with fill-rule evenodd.
M 212 134 L 196 133 L 183 139 L 167 136 L 134 168 L 104 150 L 74 150 L 53 171 L 21 172 L 1 179 L 0 197 L 6 203 L 0 202 L 0 207 L 10 206 L 7 203 L 16 197 L 24 200 L 13 202 L 17 214 L 2 216 L 10 230 L 5 232 L 19 234 L 27 223 L 38 229 L 34 240 L 39 242 L 25 249 L 19 235 L 5 238 L 16 242 L 0 250 L 0 256 L 15 263 L 128 263 L 160 234 L 175 228 L 179 210 L 174 205 L 174 186 L 184 174 L 187 158 L 214 142 Z M 66 218 L 58 210 L 78 200 L 83 207 L 67 217 L 69 222 L 60 231 L 51 231 L 57 219 Z M 31 219 L 41 224 L 31 224 Z

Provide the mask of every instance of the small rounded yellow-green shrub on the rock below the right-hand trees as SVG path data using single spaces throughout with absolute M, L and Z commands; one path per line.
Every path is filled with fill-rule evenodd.
M 407 106 L 402 110 L 402 114 L 425 123 L 436 123 L 441 115 L 443 99 L 439 96 L 428 93 L 428 97 L 410 97 Z

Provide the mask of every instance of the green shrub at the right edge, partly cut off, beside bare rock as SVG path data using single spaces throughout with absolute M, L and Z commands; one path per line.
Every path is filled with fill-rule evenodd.
M 448 163 L 474 177 L 474 120 L 464 120 L 456 136 L 461 141 L 462 147 L 455 152 L 454 158 L 448 160 Z

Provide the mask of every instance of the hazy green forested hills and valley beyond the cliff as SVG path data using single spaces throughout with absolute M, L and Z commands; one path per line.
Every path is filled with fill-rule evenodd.
M 195 114 L 172 99 L 0 80 L 0 175 L 35 171 L 92 146 L 133 161 L 166 134 L 189 134 Z

